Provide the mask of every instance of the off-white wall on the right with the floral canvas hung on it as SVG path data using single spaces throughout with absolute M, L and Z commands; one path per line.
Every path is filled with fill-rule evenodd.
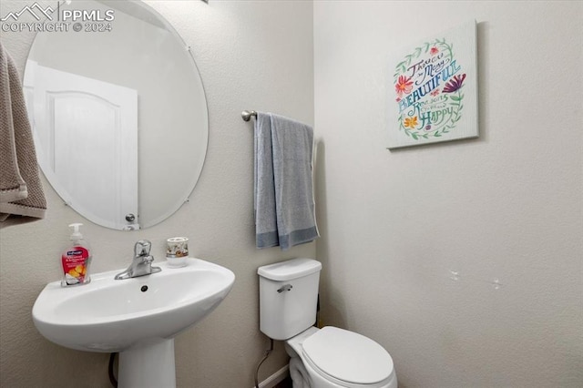
M 385 149 L 391 51 L 471 19 L 480 138 Z M 314 2 L 323 321 L 382 343 L 401 388 L 583 385 L 581 20 Z

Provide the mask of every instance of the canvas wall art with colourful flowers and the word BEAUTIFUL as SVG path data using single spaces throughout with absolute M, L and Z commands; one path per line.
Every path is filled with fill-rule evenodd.
M 476 22 L 394 56 L 389 148 L 476 138 Z

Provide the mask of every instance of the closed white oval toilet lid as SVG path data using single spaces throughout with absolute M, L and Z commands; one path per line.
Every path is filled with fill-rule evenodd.
M 344 382 L 379 383 L 393 373 L 391 355 L 356 332 L 327 326 L 308 337 L 302 347 L 322 372 Z

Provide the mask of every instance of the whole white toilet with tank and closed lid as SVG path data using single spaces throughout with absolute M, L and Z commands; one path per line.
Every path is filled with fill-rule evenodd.
M 260 267 L 260 329 L 285 341 L 293 388 L 396 388 L 391 355 L 377 342 L 332 326 L 318 329 L 322 264 L 293 259 Z

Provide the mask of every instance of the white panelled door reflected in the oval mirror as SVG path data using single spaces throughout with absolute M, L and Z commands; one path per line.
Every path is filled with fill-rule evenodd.
M 56 192 L 99 225 L 139 229 L 125 217 L 138 214 L 138 92 L 33 61 L 26 68 L 39 163 Z

